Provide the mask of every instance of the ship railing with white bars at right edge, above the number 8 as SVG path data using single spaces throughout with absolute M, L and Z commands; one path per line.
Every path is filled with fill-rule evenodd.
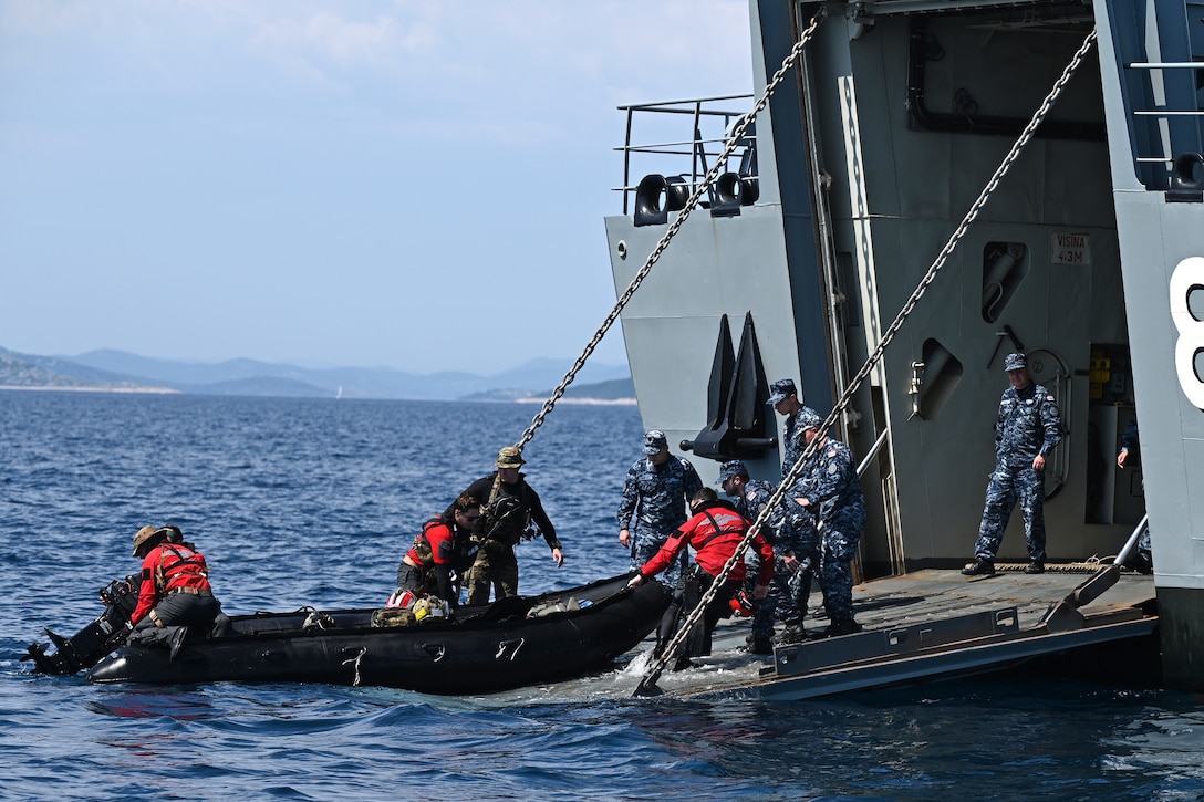
M 1143 75 L 1140 95 L 1149 99 L 1144 107 L 1134 104 L 1131 108 L 1134 130 L 1144 134 L 1137 137 L 1144 145 L 1133 154 L 1143 183 L 1155 190 L 1199 191 L 1204 185 L 1204 108 L 1197 82 L 1185 79 L 1182 72 L 1204 70 L 1204 61 L 1133 61 L 1126 67 Z

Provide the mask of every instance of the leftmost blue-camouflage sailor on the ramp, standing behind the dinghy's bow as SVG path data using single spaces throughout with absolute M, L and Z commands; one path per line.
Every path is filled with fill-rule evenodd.
M 619 505 L 619 542 L 631 548 L 631 570 L 651 560 L 669 536 L 686 521 L 686 505 L 702 490 L 702 479 L 690 462 L 669 454 L 668 440 L 660 429 L 644 435 L 644 459 L 627 468 Z M 632 536 L 635 518 L 635 536 Z M 677 585 L 686 567 L 686 552 L 661 573 L 661 582 Z

